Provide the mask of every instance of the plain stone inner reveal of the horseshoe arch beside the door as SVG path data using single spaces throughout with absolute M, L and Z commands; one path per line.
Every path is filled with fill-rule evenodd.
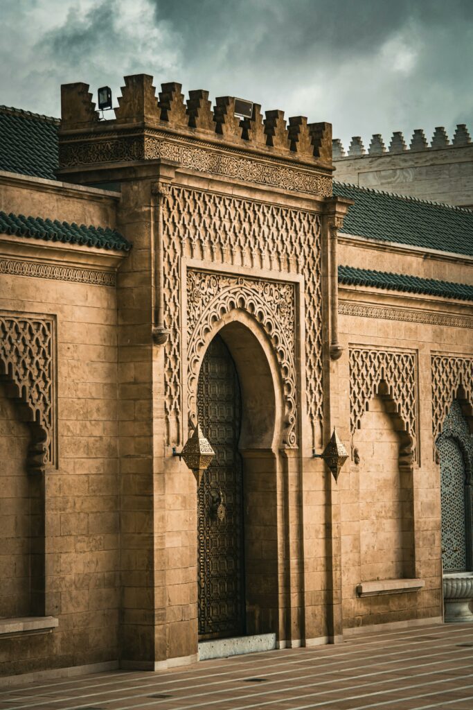
M 233 359 L 241 394 L 238 451 L 243 459 L 244 633 L 279 633 L 277 495 L 284 427 L 282 378 L 265 333 L 243 310 L 224 315 L 208 332 L 199 373 L 205 351 L 217 335 Z

